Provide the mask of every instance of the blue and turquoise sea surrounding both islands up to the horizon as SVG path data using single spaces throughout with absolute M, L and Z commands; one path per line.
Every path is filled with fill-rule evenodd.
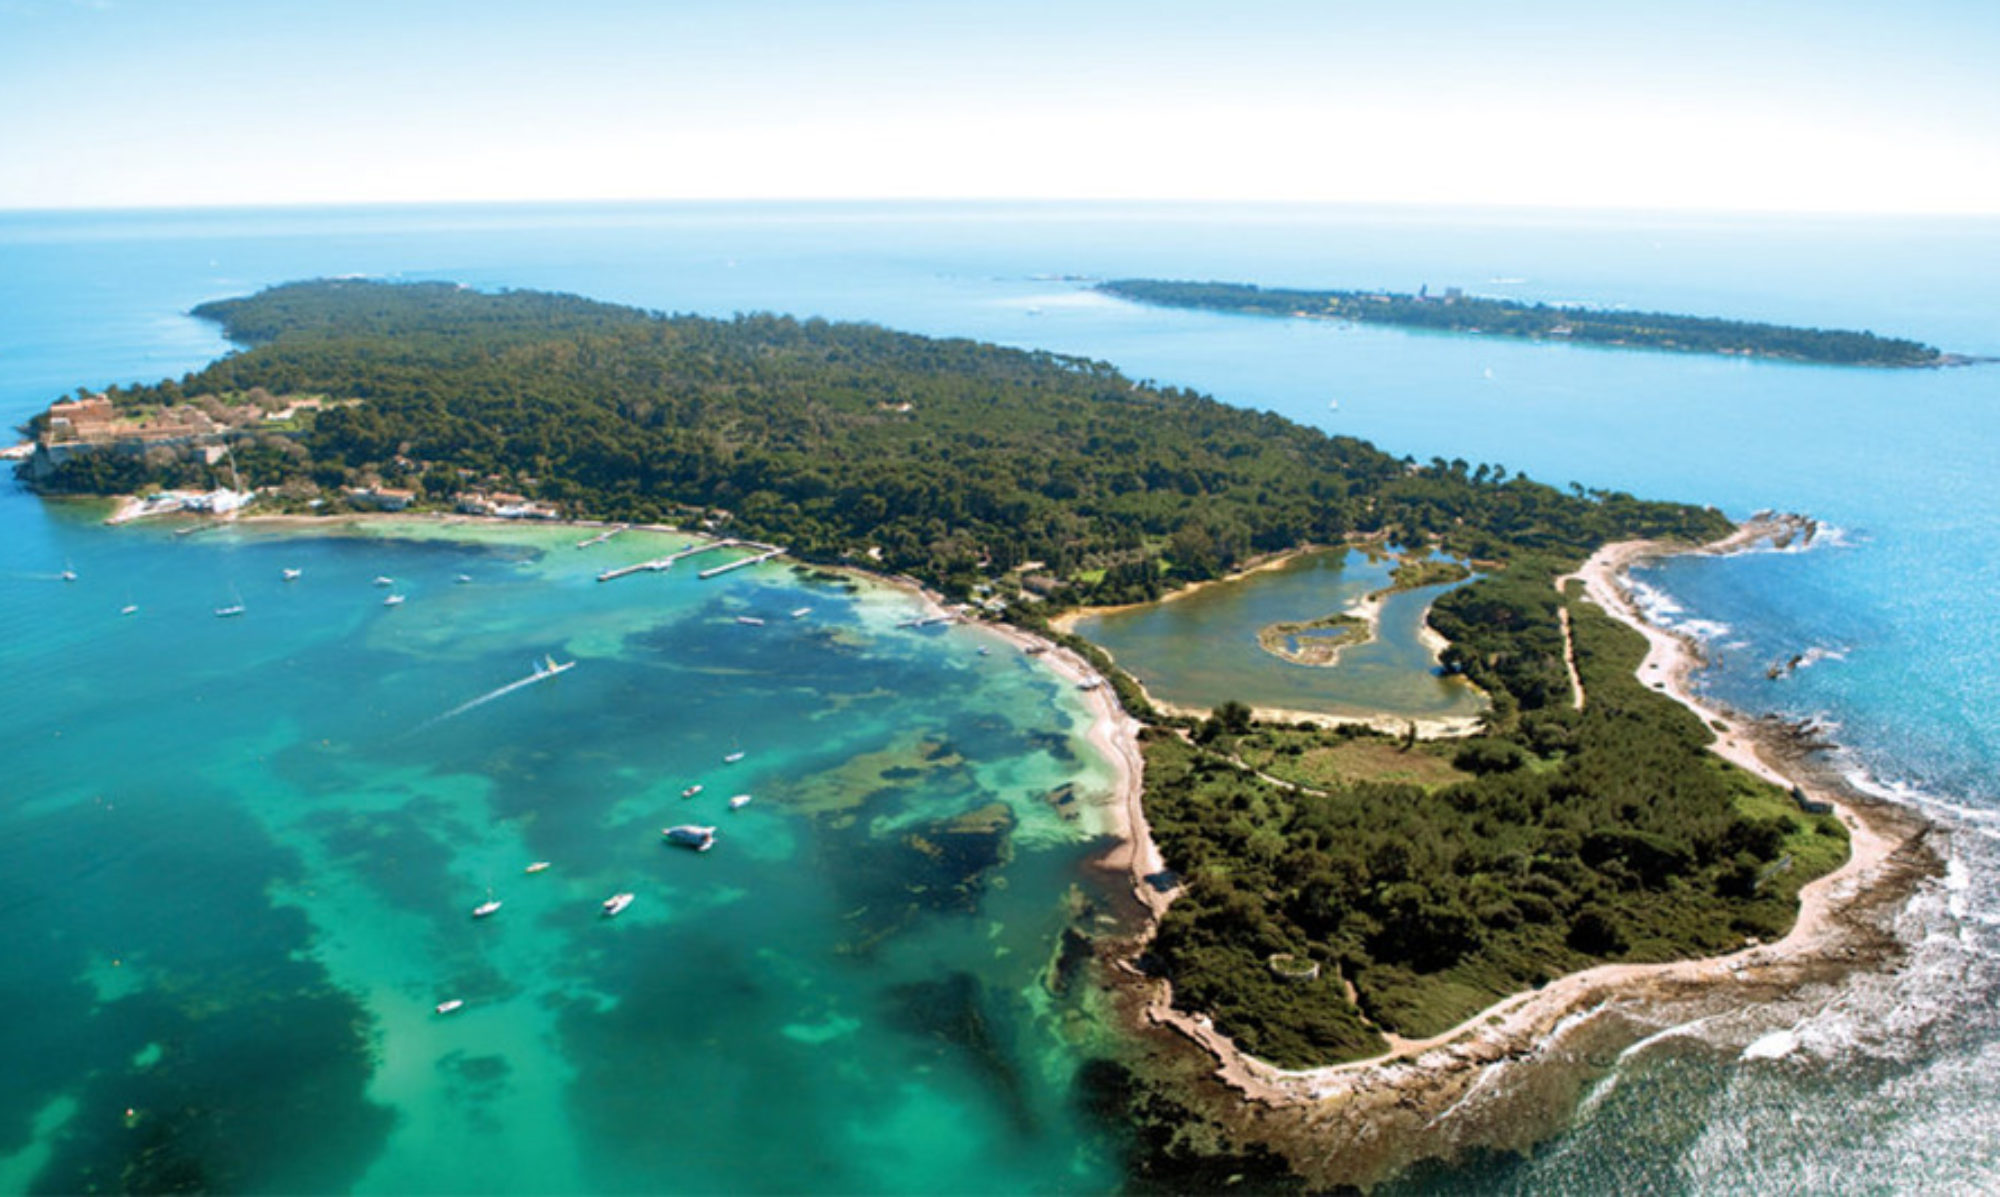
M 230 346 L 190 306 L 312 276 L 1048 348 L 1414 460 L 1814 516 L 1806 546 L 1638 580 L 1656 619 L 1704 641 L 1710 697 L 1816 721 L 1856 781 L 1946 831 L 1946 877 L 1902 915 L 1908 963 L 1754 1037 L 1660 1027 L 1566 1131 L 1400 1187 L 2000 1189 L 2000 364 L 1534 344 L 1090 290 L 1460 286 L 2000 356 L 2000 222 L 972 202 L 8 212 L 0 416 L 196 368 Z M 900 590 L 784 562 L 596 580 L 684 542 L 670 534 L 176 536 L 102 514 L 0 490 L 0 1191 L 1124 1183 L 1116 1127 L 1076 1085 L 1112 1031 L 1050 981 L 1062 931 L 1104 901 L 1090 803 L 1110 785 L 1052 675 L 976 629 L 904 627 L 920 609 Z M 242 615 L 214 615 L 228 607 Z M 536 679 L 546 659 L 576 667 Z M 738 793 L 752 801 L 730 809 Z M 678 823 L 714 825 L 714 849 L 664 845 Z M 634 901 L 608 919 L 614 893 Z M 502 907 L 474 919 L 484 901 Z M 464 1005 L 436 1013 L 448 1001 Z

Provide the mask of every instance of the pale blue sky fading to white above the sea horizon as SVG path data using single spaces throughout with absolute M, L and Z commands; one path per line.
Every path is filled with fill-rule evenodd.
M 0 208 L 2000 214 L 2000 2 L 0 0 Z

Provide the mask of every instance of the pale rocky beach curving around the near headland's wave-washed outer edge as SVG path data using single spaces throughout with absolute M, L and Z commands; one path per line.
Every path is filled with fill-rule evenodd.
M 1746 524 L 1698 552 L 1732 552 L 1766 536 L 1768 526 Z M 1624 586 L 1624 570 L 1634 562 L 1672 552 L 1688 548 L 1608 544 L 1570 576 L 1590 601 L 1646 637 L 1640 677 L 1718 727 L 1720 757 L 1830 803 L 1848 827 L 1846 865 L 1800 891 L 1792 931 L 1778 943 L 1726 957 L 1572 973 L 1502 999 L 1442 1035 L 1388 1037 L 1390 1051 L 1376 1059 L 1300 1071 L 1246 1055 L 1206 1017 L 1172 1009 L 1166 981 L 1128 969 L 1140 1019 L 1210 1057 L 1222 1097 L 1204 1103 L 1204 1113 L 1280 1151 L 1312 1183 L 1366 1185 L 1418 1159 L 1470 1147 L 1526 1147 L 1554 1133 L 1588 1077 L 1602 1073 L 1604 1059 L 1666 1027 L 1734 1019 L 1752 1035 L 1772 1019 L 1786 1025 L 1784 1019 L 1802 1015 L 1802 993 L 1902 957 L 1886 921 L 1918 885 L 1942 873 L 1926 845 L 1928 825 L 1904 807 L 1852 789 L 1780 729 L 1692 695 L 1692 675 L 1702 663 L 1696 645 L 1648 625 Z

